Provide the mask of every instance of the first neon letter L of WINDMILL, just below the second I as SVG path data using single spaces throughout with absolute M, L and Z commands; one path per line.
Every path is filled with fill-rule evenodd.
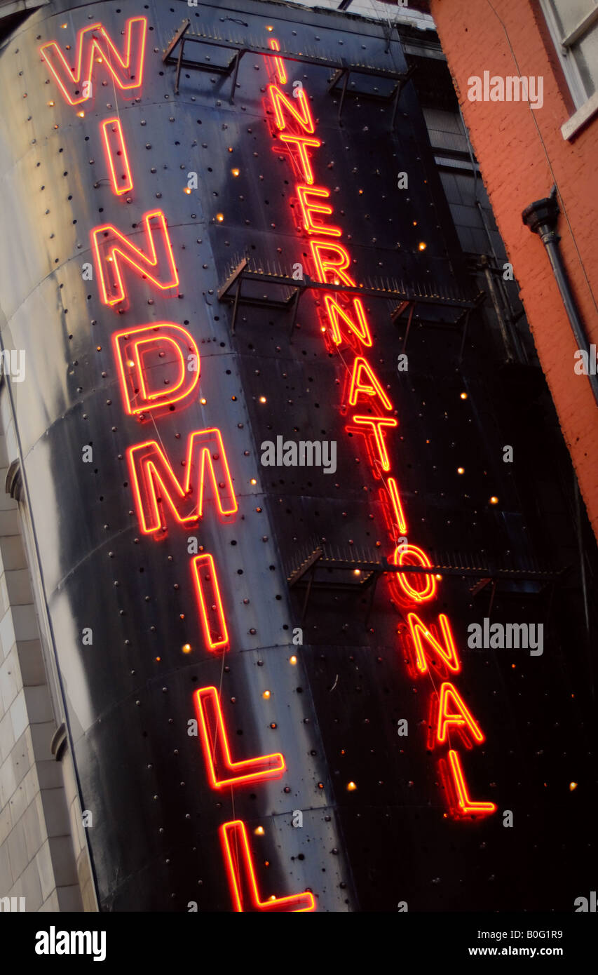
M 212 789 L 260 782 L 262 779 L 280 779 L 284 771 L 284 759 L 280 752 L 246 761 L 231 759 L 228 735 L 215 687 L 202 687 L 193 696 Z

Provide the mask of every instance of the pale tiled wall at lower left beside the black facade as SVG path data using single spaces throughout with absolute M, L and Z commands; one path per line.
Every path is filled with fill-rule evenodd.
M 0 898 L 25 910 L 97 910 L 74 769 L 51 753 L 48 688 L 18 502 L 4 490 L 17 455 L 7 389 L 0 388 Z M 18 902 L 19 903 L 19 902 Z

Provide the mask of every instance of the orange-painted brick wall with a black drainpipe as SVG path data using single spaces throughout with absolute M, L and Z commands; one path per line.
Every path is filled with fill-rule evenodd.
M 562 137 L 574 106 L 536 0 L 430 0 L 430 13 L 598 536 L 598 409 L 588 377 L 574 372 L 577 343 L 542 242 L 521 220 L 556 182 L 561 251 L 588 341 L 598 345 L 598 116 L 573 140 Z M 542 75 L 542 109 L 469 101 L 467 78 L 485 70 Z

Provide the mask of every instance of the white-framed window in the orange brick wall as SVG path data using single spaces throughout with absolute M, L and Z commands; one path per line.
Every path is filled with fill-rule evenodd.
M 598 110 L 598 0 L 541 0 L 571 96 L 578 111 L 563 126 L 565 138 Z

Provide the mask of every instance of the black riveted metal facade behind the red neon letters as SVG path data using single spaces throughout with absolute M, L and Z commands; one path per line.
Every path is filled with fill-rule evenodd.
M 149 22 L 141 92 L 102 86 L 98 70 L 79 117 L 39 46 L 74 47 L 95 20 L 118 38 L 138 15 Z M 176 93 L 180 45 L 163 58 L 186 19 Z M 460 690 L 486 734 L 467 755 L 471 791 L 499 806 L 483 820 L 446 816 L 427 746 L 430 683 L 409 675 L 404 621 L 380 577 L 392 544 L 378 484 L 345 432 L 346 370 L 322 341 L 318 293 L 302 293 L 297 309 L 280 305 L 280 294 L 292 299 L 293 265 L 308 257 L 293 174 L 267 114 L 267 25 L 283 52 L 299 56 L 287 65 L 318 118 L 317 178 L 332 191 L 366 290 L 372 362 L 400 423 L 410 540 L 434 565 L 464 567 L 442 576 L 433 612 L 451 616 Z M 223 43 L 189 40 L 201 34 Z M 235 80 L 226 66 L 237 50 Z M 352 73 L 343 95 L 348 64 L 373 69 Z M 187 911 L 197 902 L 202 912 L 230 911 L 217 830 L 235 818 L 247 824 L 260 890 L 309 888 L 318 911 L 395 911 L 398 902 L 431 912 L 571 910 L 590 889 L 591 667 L 576 528 L 556 474 L 568 458 L 542 376 L 502 369 L 410 81 L 394 104 L 407 70 L 398 35 L 382 25 L 250 0 L 54 3 L 2 49 L 3 346 L 26 352 L 26 381 L 12 384 L 20 459 L 103 910 Z M 100 144 L 99 123 L 117 104 L 131 203 L 111 192 Z M 187 194 L 194 172 L 199 188 Z M 397 189 L 399 172 L 407 191 Z M 178 294 L 128 273 L 119 314 L 83 278 L 90 231 L 113 223 L 139 242 L 141 215 L 158 206 Z M 234 309 L 227 285 L 239 283 L 244 257 Z M 416 298 L 409 367 L 398 372 Z M 156 542 L 139 531 L 125 459 L 155 430 L 124 413 L 111 334 L 160 321 L 188 328 L 202 355 L 202 402 L 156 419 L 162 443 L 178 463 L 190 432 L 218 426 L 239 513 L 226 525 L 210 514 L 197 527 L 169 525 Z M 260 445 L 278 436 L 336 441 L 336 473 L 261 466 Z M 93 463 L 84 463 L 89 445 Z M 203 642 L 189 536 L 218 565 L 231 636 L 224 655 Z M 314 573 L 303 574 L 314 553 Z M 542 656 L 467 649 L 467 625 L 489 614 L 491 593 L 493 621 L 544 623 Z M 302 645 L 292 643 L 297 628 Z M 206 685 L 221 688 L 239 758 L 283 753 L 280 781 L 210 790 L 187 733 L 192 693 Z M 397 735 L 400 719 L 407 737 Z M 303 812 L 301 828 L 293 810 Z

